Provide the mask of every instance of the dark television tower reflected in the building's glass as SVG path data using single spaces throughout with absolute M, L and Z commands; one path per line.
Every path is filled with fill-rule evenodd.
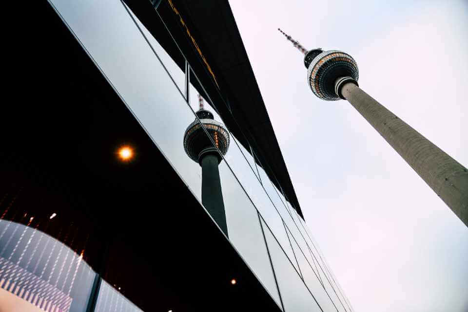
M 184 149 L 187 155 L 201 166 L 201 202 L 218 226 L 228 236 L 218 165 L 229 148 L 229 133 L 223 124 L 217 122 L 213 114 L 204 109 L 203 98 L 198 94 L 198 119 L 187 127 L 184 134 Z M 201 125 L 203 125 L 203 128 Z M 206 135 L 205 130 L 211 137 Z M 213 142 L 216 147 L 213 146 Z

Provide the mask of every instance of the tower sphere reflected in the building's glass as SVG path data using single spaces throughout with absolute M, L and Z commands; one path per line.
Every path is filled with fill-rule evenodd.
M 196 115 L 200 119 L 201 125 L 198 120 L 195 120 L 187 127 L 187 130 L 185 130 L 184 149 L 187 155 L 193 161 L 200 163 L 203 154 L 206 152 L 216 152 L 213 143 L 206 135 L 202 125 L 209 133 L 213 142 L 215 142 L 221 154 L 223 154 L 223 156 L 226 155 L 229 148 L 229 132 L 224 125 L 216 121 L 213 118 L 213 114 L 208 110 L 198 110 Z M 221 161 L 221 157 L 219 157 L 219 161 Z

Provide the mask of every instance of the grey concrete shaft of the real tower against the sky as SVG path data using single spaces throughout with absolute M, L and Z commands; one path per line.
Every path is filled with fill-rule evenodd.
M 362 91 L 354 82 L 345 82 L 340 95 L 366 118 L 468 226 L 467 168 Z

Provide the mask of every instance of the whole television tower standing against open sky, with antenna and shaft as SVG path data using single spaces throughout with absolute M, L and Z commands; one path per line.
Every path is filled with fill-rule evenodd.
M 359 88 L 359 71 L 351 55 L 320 48 L 307 51 L 278 30 L 304 56 L 312 92 L 322 100 L 348 100 L 448 207 L 468 226 L 467 168 Z

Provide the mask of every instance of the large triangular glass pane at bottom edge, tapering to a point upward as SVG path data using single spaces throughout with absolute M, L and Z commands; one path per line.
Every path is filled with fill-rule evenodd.
M 263 220 L 262 226 L 272 256 L 273 269 L 278 280 L 284 310 L 286 312 L 320 312 L 317 302 L 294 270 L 291 261 L 274 239 L 272 232 L 265 226 Z M 324 312 L 326 311 L 324 310 Z

